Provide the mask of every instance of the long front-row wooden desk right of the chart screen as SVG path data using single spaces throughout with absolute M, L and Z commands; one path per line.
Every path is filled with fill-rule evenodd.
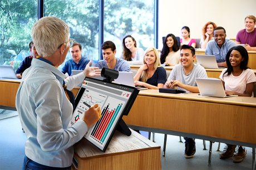
M 141 90 L 124 121 L 136 130 L 256 147 L 256 97 Z

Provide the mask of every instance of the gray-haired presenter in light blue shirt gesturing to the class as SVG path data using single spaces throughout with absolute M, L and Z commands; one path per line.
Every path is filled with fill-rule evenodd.
M 56 17 L 43 17 L 32 28 L 32 39 L 39 58 L 24 71 L 16 96 L 16 109 L 26 132 L 22 169 L 71 169 L 73 145 L 100 119 L 95 104 L 82 120 L 71 126 L 73 106 L 66 91 L 85 76 L 99 76 L 99 68 L 86 65 L 83 73 L 65 79 L 57 69 L 63 63 L 73 40 L 70 28 Z M 62 86 L 63 85 L 63 86 Z

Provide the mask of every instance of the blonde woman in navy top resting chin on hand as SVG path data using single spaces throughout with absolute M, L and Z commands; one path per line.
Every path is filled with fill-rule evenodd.
M 163 88 L 166 82 L 166 70 L 160 66 L 158 51 L 154 47 L 145 50 L 144 65 L 134 76 L 135 86 L 145 86 L 148 89 Z

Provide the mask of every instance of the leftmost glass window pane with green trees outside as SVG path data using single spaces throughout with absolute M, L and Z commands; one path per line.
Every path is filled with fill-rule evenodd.
M 31 55 L 31 29 L 37 21 L 37 0 L 0 1 L 0 65 L 13 64 Z

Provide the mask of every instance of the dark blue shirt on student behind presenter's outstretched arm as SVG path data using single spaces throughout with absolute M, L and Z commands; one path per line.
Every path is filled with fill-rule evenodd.
M 63 66 L 61 72 L 63 74 L 68 73 L 68 75 L 72 75 L 72 70 L 84 70 L 86 65 L 90 62 L 89 59 L 81 56 L 80 61 L 76 64 L 73 59 L 69 59 L 66 61 L 65 65 Z

